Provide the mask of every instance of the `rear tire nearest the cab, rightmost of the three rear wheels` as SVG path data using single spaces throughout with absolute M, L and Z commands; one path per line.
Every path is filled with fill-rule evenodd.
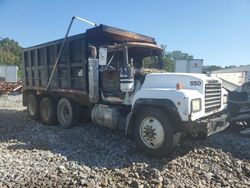
M 57 118 L 63 128 L 73 127 L 79 120 L 79 108 L 69 99 L 62 98 L 57 106 Z

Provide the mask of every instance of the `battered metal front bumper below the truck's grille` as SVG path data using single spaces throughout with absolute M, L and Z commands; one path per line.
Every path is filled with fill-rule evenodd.
M 227 113 L 215 114 L 213 117 L 202 118 L 185 123 L 185 130 L 192 136 L 210 136 L 225 130 L 229 126 Z

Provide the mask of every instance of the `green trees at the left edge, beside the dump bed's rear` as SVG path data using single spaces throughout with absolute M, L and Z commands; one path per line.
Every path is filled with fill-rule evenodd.
M 0 40 L 0 65 L 15 65 L 21 67 L 22 48 L 18 42 L 9 38 Z

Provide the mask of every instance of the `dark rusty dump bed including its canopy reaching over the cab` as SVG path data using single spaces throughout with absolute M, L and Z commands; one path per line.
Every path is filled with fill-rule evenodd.
M 88 94 L 88 46 L 124 42 L 155 44 L 154 38 L 99 25 L 67 38 L 49 91 Z M 45 91 L 63 39 L 23 49 L 23 90 Z

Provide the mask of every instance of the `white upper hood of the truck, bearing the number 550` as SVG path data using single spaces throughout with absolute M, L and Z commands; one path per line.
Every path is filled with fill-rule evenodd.
M 197 73 L 150 73 L 146 75 L 142 88 L 176 88 L 177 83 L 181 83 L 184 89 L 198 90 L 202 93 L 204 84 L 221 81 Z

